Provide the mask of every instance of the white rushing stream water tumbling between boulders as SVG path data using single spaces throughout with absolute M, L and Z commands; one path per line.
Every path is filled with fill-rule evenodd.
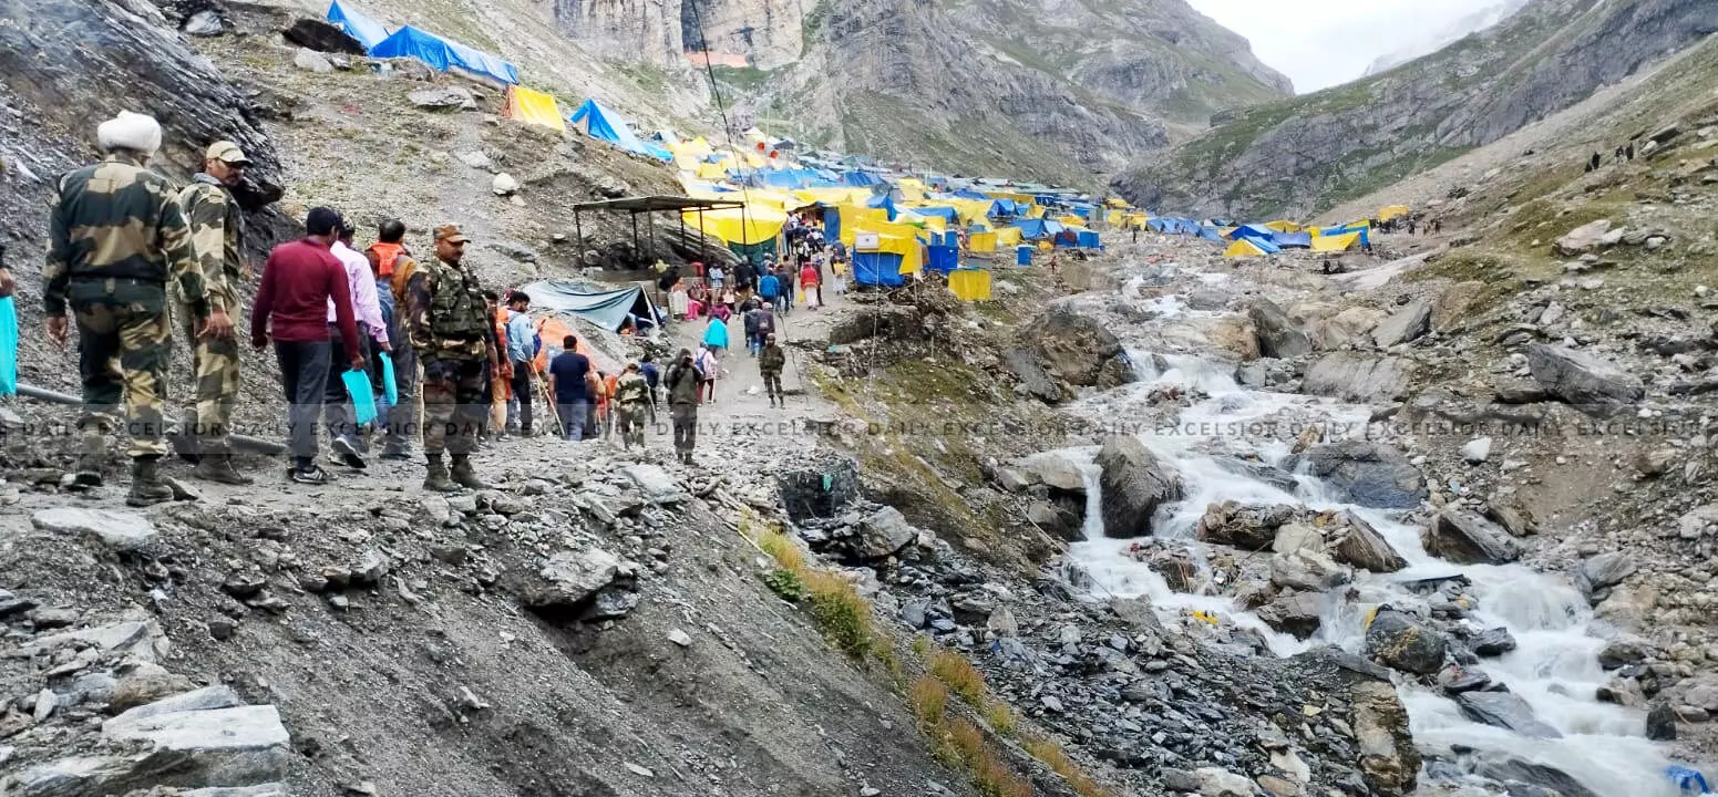
M 1220 280 L 1204 278 L 1201 282 Z M 1125 292 L 1124 295 L 1134 294 Z M 1141 304 L 1158 313 L 1160 321 L 1194 314 L 1173 294 Z M 1297 476 L 1292 490 L 1282 479 L 1268 483 L 1242 476 L 1234 467 L 1223 467 L 1216 459 L 1218 455 L 1240 455 L 1278 465 L 1290 453 L 1292 435 L 1258 435 L 1258 424 L 1295 417 L 1328 424 L 1326 429 L 1335 429 L 1338 436 L 1342 431 L 1349 431 L 1347 436 L 1359 436 L 1369 416 L 1368 407 L 1247 390 L 1235 383 L 1232 362 L 1197 354 L 1153 356 L 1148 350 L 1134 350 L 1130 357 L 1141 381 L 1118 388 L 1108 397 L 1091 398 L 1086 409 L 1101 414 L 1112 404 L 1139 400 L 1151 390 L 1168 386 L 1180 386 L 1201 397 L 1177 416 L 1168 433 L 1163 433 L 1165 428 L 1160 424 L 1156 431 L 1141 435 L 1146 447 L 1160 460 L 1173 465 L 1182 478 L 1184 498 L 1158 510 L 1154 524 L 1158 538 L 1172 538 L 1175 545 L 1199 546 L 1192 539 L 1197 520 L 1206 505 L 1225 500 L 1349 510 L 1373 524 L 1407 560 L 1409 567 L 1395 574 L 1357 570 L 1352 584 L 1356 599 L 1345 601 L 1340 593 L 1326 596 L 1330 605 L 1323 615 L 1323 625 L 1313 639 L 1299 641 L 1288 634 L 1278 634 L 1254 613 L 1235 606 L 1227 596 L 1172 591 L 1151 567 L 1129 557 L 1134 541 L 1105 538 L 1098 512 L 1098 469 L 1091 464 L 1096 452 L 1087 447 L 1063 452 L 1081 465 L 1087 486 L 1086 541 L 1070 548 L 1069 560 L 1089 574 L 1096 584 L 1096 594 L 1144 596 L 1165 615 L 1208 613 L 1208 617 L 1220 618 L 1221 624 L 1258 632 L 1280 656 L 1323 644 L 1364 653 L 1368 610 L 1380 603 L 1423 606 L 1426 598 L 1407 589 L 1409 582 L 1464 575 L 1471 581 L 1467 594 L 1477 599 L 1477 608 L 1471 611 L 1472 627 L 1476 630 L 1503 627 L 1517 641 L 1512 653 L 1481 660 L 1477 670 L 1490 675 L 1493 682 L 1508 685 L 1512 692 L 1532 706 L 1543 723 L 1557 728 L 1563 737 L 1529 739 L 1505 728 L 1476 723 L 1462 716 L 1453 701 L 1398 678 L 1402 684 L 1398 691 L 1409 709 L 1416 742 L 1429 752 L 1465 745 L 1553 766 L 1594 794 L 1606 797 L 1673 797 L 1680 794 L 1665 776 L 1670 764 L 1665 752 L 1644 739 L 1644 713 L 1596 699 L 1596 691 L 1608 680 L 1598 663 L 1598 653 L 1605 641 L 1591 632 L 1593 611 L 1581 593 L 1565 579 L 1536 572 L 1526 565 L 1457 565 L 1435 558 L 1421 545 L 1421 529 L 1402 522 L 1400 512 L 1343 505 L 1309 476 Z M 1194 558 L 1199 567 L 1206 567 L 1204 557 Z

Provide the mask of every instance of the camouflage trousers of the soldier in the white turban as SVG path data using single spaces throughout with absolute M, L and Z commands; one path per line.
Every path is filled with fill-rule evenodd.
M 105 285 L 105 289 L 103 289 Z M 120 424 L 124 404 L 131 457 L 161 457 L 167 361 L 172 321 L 160 287 L 103 280 L 69 290 L 77 319 L 77 371 L 84 386 L 84 435 L 107 435 Z

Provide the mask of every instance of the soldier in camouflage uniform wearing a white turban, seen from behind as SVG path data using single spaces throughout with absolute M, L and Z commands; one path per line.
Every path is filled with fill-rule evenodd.
M 174 186 L 144 167 L 161 146 L 160 124 L 120 113 L 101 124 L 96 139 L 107 158 L 57 184 L 41 294 L 55 344 L 67 342 L 67 306 L 77 318 L 84 383 L 77 479 L 101 483 L 105 435 L 117 426 L 124 400 L 132 459 L 127 503 L 143 507 L 174 496 L 158 472 L 167 453 L 161 397 L 172 340 L 168 280 L 179 283 L 201 323 L 199 337 L 230 337 L 232 319 L 210 307 Z

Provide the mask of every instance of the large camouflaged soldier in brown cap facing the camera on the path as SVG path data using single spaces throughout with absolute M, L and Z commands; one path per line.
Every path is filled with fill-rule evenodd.
M 490 414 L 484 376 L 500 371 L 500 352 L 483 285 L 460 263 L 467 240 L 459 225 L 436 227 L 435 258 L 417 266 L 402 295 L 407 335 L 423 362 L 424 490 L 442 493 L 488 490 L 471 467 L 471 452 Z

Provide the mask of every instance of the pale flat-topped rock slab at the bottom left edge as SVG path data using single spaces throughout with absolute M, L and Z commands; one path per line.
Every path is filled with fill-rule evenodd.
M 158 782 L 194 773 L 199 787 L 247 787 L 280 782 L 287 773 L 292 737 L 280 723 L 275 706 L 235 706 L 213 711 L 175 711 L 131 721 L 113 718 L 101 723 L 108 742 L 136 742 L 155 754 L 139 763 L 153 763 Z

